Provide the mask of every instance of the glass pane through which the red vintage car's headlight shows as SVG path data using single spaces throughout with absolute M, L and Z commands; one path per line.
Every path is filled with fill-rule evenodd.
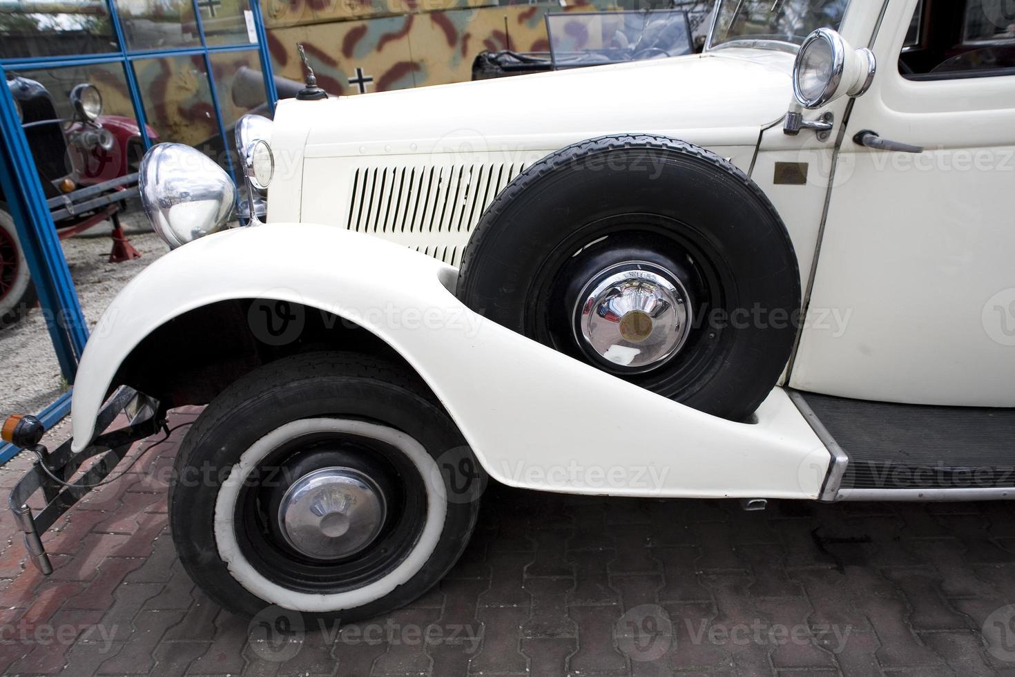
M 7 85 L 47 197 L 137 171 L 143 144 L 120 63 L 20 70 Z M 97 90 L 94 120 L 72 104 L 79 85 Z

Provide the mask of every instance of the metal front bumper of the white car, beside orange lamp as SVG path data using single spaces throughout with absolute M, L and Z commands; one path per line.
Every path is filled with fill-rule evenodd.
M 106 429 L 113 424 L 120 412 L 128 413 L 130 423 L 107 432 Z M 52 453 L 42 445 L 31 449 L 39 458 L 14 485 L 7 505 L 14 514 L 18 529 L 24 533 L 24 547 L 31 555 L 31 563 L 36 568 L 46 576 L 53 572 L 42 534 L 108 477 L 126 456 L 131 445 L 153 434 L 160 427 L 164 427 L 164 421 L 160 416 L 158 402 L 131 388 L 122 387 L 113 394 L 95 417 L 95 430 L 99 434 L 91 445 L 77 454 L 71 451 L 71 438 Z M 71 482 L 70 478 L 85 461 L 93 457 L 100 458 Z M 44 463 L 45 468 L 42 465 Z M 37 514 L 32 514 L 28 502 L 40 489 L 43 491 L 45 505 Z

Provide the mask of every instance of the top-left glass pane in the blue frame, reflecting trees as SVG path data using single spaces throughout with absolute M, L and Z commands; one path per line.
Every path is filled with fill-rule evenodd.
M 105 0 L 0 2 L 0 59 L 119 49 Z

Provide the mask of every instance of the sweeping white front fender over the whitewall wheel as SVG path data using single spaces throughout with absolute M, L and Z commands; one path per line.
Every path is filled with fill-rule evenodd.
M 429 257 L 335 226 L 274 223 L 190 243 L 134 278 L 100 319 L 74 386 L 74 449 L 92 439 L 119 366 L 151 332 L 210 303 L 265 298 L 332 313 L 389 344 L 505 484 L 817 497 L 829 455 L 781 389 L 752 423 L 701 413 L 473 313 L 449 290 L 456 275 Z

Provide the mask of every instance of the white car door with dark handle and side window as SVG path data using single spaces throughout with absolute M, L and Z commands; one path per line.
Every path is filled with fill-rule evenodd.
M 890 0 L 874 52 L 791 386 L 1015 406 L 1015 12 L 1005 0 Z M 867 147 L 853 140 L 862 131 L 925 149 Z

